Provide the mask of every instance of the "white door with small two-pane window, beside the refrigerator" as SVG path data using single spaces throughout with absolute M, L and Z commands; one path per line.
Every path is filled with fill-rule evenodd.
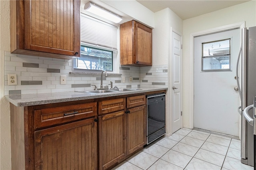
M 206 42 L 217 41 L 210 44 L 208 53 L 218 45 L 219 50 L 222 44 L 219 40 L 230 39 L 230 70 L 202 71 L 202 65 L 214 68 L 217 65 L 225 65 L 226 61 L 221 57 L 209 57 L 202 61 L 202 46 Z M 194 127 L 214 131 L 227 135 L 239 136 L 239 113 L 240 106 L 239 92 L 236 87 L 236 62 L 240 44 L 240 29 L 232 29 L 219 33 L 203 35 L 194 38 Z M 205 46 L 206 47 L 206 46 Z M 203 63 L 203 64 L 202 64 Z M 216 67 L 217 68 L 217 67 Z M 225 68 L 225 67 L 224 67 Z M 215 68 L 214 68 L 215 69 Z

